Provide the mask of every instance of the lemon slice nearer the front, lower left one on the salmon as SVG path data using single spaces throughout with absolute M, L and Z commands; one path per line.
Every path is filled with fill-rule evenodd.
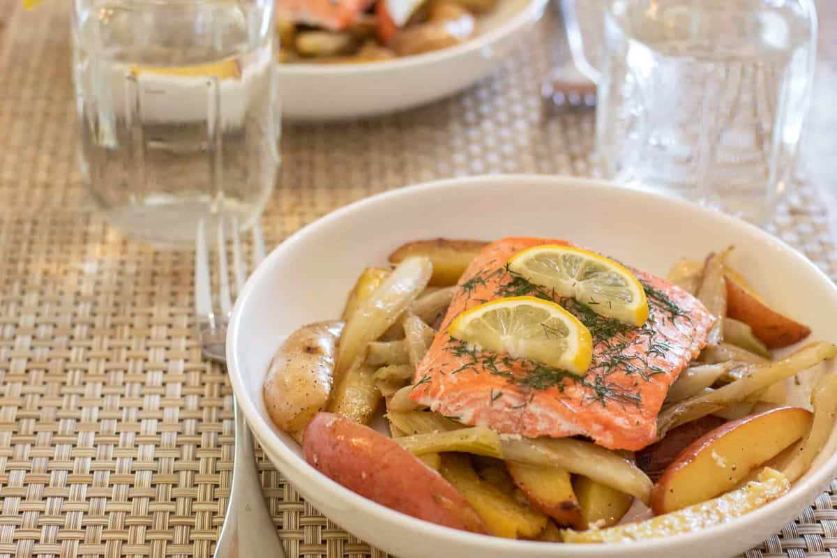
M 579 376 L 593 360 L 590 331 L 574 315 L 533 296 L 496 299 L 466 310 L 450 325 L 456 339 Z

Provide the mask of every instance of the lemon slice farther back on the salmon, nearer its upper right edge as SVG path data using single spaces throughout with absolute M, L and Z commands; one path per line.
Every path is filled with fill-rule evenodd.
M 648 299 L 634 274 L 598 253 L 543 244 L 512 256 L 508 269 L 530 283 L 583 302 L 598 315 L 636 326 L 648 320 Z

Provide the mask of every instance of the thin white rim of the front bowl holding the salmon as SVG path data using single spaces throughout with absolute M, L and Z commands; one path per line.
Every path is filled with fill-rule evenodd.
M 615 182 L 607 182 L 597 179 L 579 178 L 563 175 L 536 175 L 536 174 L 495 174 L 495 175 L 480 175 L 473 177 L 456 177 L 434 180 L 430 182 L 419 182 L 408 187 L 401 187 L 386 192 L 377 193 L 371 197 L 362 198 L 356 202 L 347 204 L 332 212 L 327 213 L 321 218 L 308 223 L 292 233 L 284 242 L 278 244 L 270 254 L 259 264 L 254 273 L 250 275 L 244 290 L 237 299 L 233 313 L 229 320 L 229 329 L 227 335 L 226 349 L 228 356 L 228 370 L 230 381 L 233 385 L 233 391 L 236 397 L 239 398 L 239 408 L 244 412 L 244 416 L 249 422 L 250 428 L 259 439 L 259 443 L 265 446 L 266 453 L 279 455 L 285 467 L 294 468 L 295 473 L 299 476 L 305 476 L 307 482 L 311 483 L 304 487 L 304 491 L 308 489 L 317 489 L 326 491 L 332 494 L 336 499 L 348 504 L 352 507 L 354 513 L 360 513 L 372 517 L 376 520 L 395 522 L 399 527 L 405 530 L 412 530 L 417 535 L 434 537 L 439 540 L 456 540 L 462 545 L 469 545 L 472 550 L 491 549 L 509 552 L 510 555 L 518 553 L 521 556 L 536 555 L 542 552 L 544 543 L 535 540 L 510 540 L 503 539 L 492 535 L 479 535 L 463 530 L 456 530 L 443 525 L 436 525 L 429 521 L 419 520 L 411 515 L 403 514 L 394 509 L 390 509 L 382 504 L 377 504 L 371 499 L 367 499 L 360 494 L 353 492 L 350 489 L 336 483 L 336 481 L 329 479 L 325 474 L 322 474 L 316 468 L 311 467 L 306 463 L 305 459 L 297 455 L 293 451 L 285 448 L 284 443 L 280 442 L 275 434 L 272 432 L 272 427 L 265 418 L 259 413 L 258 408 L 249 402 L 246 397 L 247 390 L 244 386 L 244 379 L 241 375 L 239 364 L 239 356 L 236 348 L 239 346 L 239 333 L 241 330 L 242 308 L 246 301 L 254 295 L 256 286 L 262 284 L 264 279 L 268 276 L 268 270 L 271 268 L 270 261 L 281 259 L 282 253 L 286 247 L 290 247 L 295 243 L 302 241 L 306 235 L 314 228 L 320 227 L 323 224 L 337 221 L 352 212 L 356 212 L 364 207 L 374 206 L 379 202 L 383 202 L 395 197 L 410 197 L 414 195 L 428 195 L 433 192 L 444 190 L 450 187 L 485 187 L 486 185 L 498 185 L 502 183 L 509 184 L 510 187 L 519 187 L 521 183 L 526 183 L 529 187 L 556 187 L 561 184 L 564 187 L 569 185 L 578 187 L 588 187 L 597 189 L 600 193 L 616 193 L 626 195 L 629 197 L 639 198 L 656 198 L 658 201 L 662 200 L 667 203 L 674 204 L 686 211 L 697 212 L 701 218 L 706 218 L 709 221 L 720 221 L 729 226 L 742 228 L 763 241 L 766 245 L 772 248 L 777 248 L 786 252 L 798 260 L 798 264 L 807 269 L 808 273 L 813 273 L 819 279 L 824 280 L 826 284 L 830 284 L 831 288 L 837 290 L 831 279 L 821 269 L 819 269 L 813 262 L 807 259 L 802 253 L 783 242 L 780 238 L 767 233 L 761 228 L 757 228 L 751 223 L 746 223 L 738 218 L 734 218 L 727 214 L 721 213 L 710 207 L 704 207 L 693 202 L 687 202 L 675 197 L 668 197 L 658 192 L 651 192 L 645 189 L 630 188 L 620 186 Z M 239 396 L 244 396 L 241 399 Z M 272 461 L 272 459 L 271 459 Z M 782 505 L 783 501 L 792 498 L 794 494 L 807 492 L 815 487 L 826 486 L 833 478 L 834 472 L 837 471 L 837 453 L 834 453 L 825 463 L 812 474 L 806 475 L 803 479 L 793 484 L 787 493 L 783 494 L 778 499 L 775 499 L 761 508 L 734 518 L 722 525 L 714 527 L 695 530 L 686 534 L 666 536 L 660 539 L 650 539 L 642 541 L 630 541 L 625 543 L 599 543 L 596 545 L 589 545 L 583 543 L 561 543 L 555 545 L 555 555 L 565 556 L 581 556 L 590 558 L 605 558 L 606 556 L 613 556 L 619 550 L 630 549 L 632 551 L 643 550 L 675 550 L 682 545 L 691 543 L 699 543 L 707 537 L 727 537 L 734 535 L 736 532 L 742 530 L 747 525 L 755 525 L 764 520 L 769 520 L 773 511 L 778 511 L 778 507 Z M 315 486 L 316 485 L 316 486 Z

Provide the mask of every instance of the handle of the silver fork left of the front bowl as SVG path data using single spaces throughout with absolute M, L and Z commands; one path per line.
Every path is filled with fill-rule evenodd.
M 253 453 L 253 435 L 239 403 L 233 397 L 235 413 L 235 467 L 229 493 L 227 517 L 215 549 L 215 558 L 269 556 L 285 558 L 276 526 L 264 503 L 259 471 Z M 278 552 L 277 552 L 278 550 Z

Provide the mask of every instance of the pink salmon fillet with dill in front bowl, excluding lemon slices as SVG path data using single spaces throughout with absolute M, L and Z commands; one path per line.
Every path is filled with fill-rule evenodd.
M 569 243 L 504 238 L 471 262 L 439 334 L 419 363 L 410 397 L 446 417 L 501 433 L 528 438 L 582 435 L 605 448 L 644 448 L 654 441 L 666 392 L 706 346 L 715 317 L 685 290 L 630 268 L 644 286 L 648 321 L 638 328 L 596 315 L 506 269 L 512 255 L 538 244 Z M 587 325 L 593 335 L 593 363 L 586 376 L 480 351 L 448 334 L 450 323 L 463 311 L 524 294 L 552 299 Z

